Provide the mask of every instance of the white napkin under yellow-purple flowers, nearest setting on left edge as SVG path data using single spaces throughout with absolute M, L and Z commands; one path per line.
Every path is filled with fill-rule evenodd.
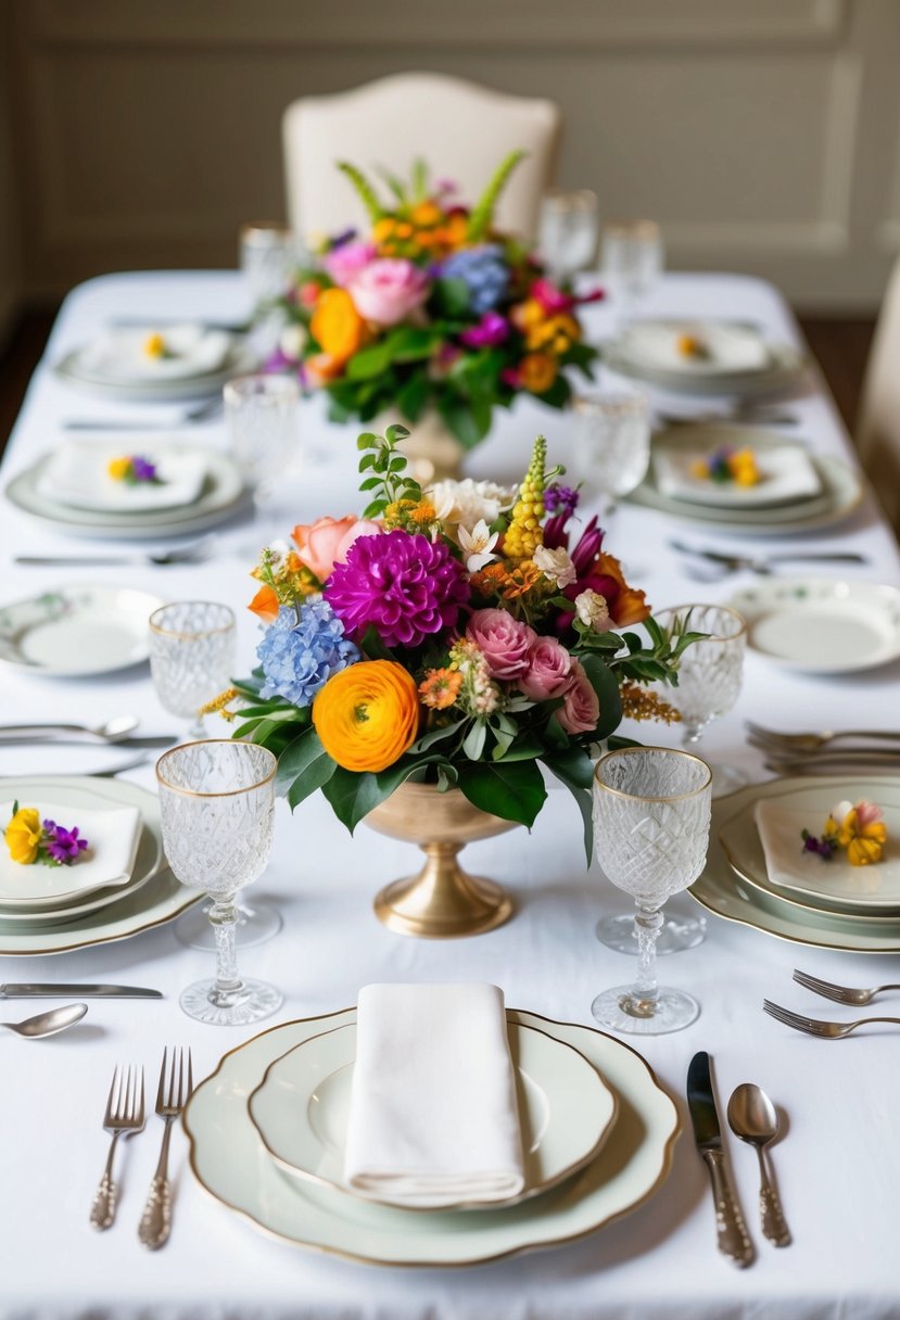
M 135 867 L 141 833 L 141 813 L 137 807 L 61 807 L 58 803 L 22 799 L 20 807 L 36 807 L 41 820 L 55 821 L 65 829 L 78 826 L 80 838 L 88 842 L 83 858 L 71 866 L 24 866 L 13 862 L 8 849 L 0 842 L 0 904 L 13 907 L 42 906 L 49 902 L 65 904 L 91 890 L 127 884 Z M 0 803 L 0 829 L 12 818 L 12 799 Z

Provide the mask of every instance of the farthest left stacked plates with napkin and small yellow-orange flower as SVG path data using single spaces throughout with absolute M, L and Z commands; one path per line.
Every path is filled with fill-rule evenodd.
M 152 351 L 150 351 L 152 350 Z M 123 403 L 164 403 L 214 395 L 252 371 L 247 342 L 198 325 L 108 330 L 57 363 L 67 384 Z

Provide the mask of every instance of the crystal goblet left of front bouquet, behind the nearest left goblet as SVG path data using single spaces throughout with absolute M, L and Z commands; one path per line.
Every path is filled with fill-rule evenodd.
M 231 682 L 235 672 L 235 615 L 214 601 L 174 601 L 154 610 L 150 675 L 172 715 L 191 719 L 189 738 L 203 737 L 199 710 Z

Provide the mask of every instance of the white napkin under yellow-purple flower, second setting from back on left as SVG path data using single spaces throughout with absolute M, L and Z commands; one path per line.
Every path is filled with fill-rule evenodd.
M 110 462 L 136 454 L 156 465 L 160 484 L 129 486 L 110 475 Z M 156 508 L 194 504 L 209 470 L 206 455 L 194 447 L 181 449 L 172 440 L 131 432 L 120 440 L 70 440 L 41 470 L 37 491 L 54 504 L 106 513 L 146 513 Z

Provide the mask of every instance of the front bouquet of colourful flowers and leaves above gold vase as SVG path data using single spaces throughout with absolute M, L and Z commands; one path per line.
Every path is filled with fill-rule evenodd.
M 404 437 L 359 437 L 362 517 L 263 552 L 260 665 L 211 709 L 277 754 L 292 807 L 321 789 L 351 832 L 409 779 L 530 826 L 544 766 L 581 808 L 590 861 L 591 750 L 627 742 L 611 737 L 626 713 L 677 719 L 647 685 L 677 681 L 695 634 L 655 623 L 595 517 L 575 533 L 578 492 L 546 470 L 544 437 L 517 490 L 425 491 Z

